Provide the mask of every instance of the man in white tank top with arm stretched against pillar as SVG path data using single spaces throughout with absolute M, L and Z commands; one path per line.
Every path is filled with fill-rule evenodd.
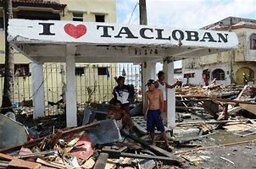
M 163 71 L 159 71 L 158 73 L 158 81 L 156 82 L 156 88 L 158 88 L 159 90 L 162 90 L 163 92 L 163 97 L 164 97 L 164 123 L 167 123 L 167 102 L 166 102 L 166 95 L 167 95 L 167 88 L 172 89 L 175 88 L 176 85 L 179 85 L 181 82 L 180 81 L 176 81 L 176 83 L 174 85 L 169 85 L 166 82 L 164 82 L 164 72 Z

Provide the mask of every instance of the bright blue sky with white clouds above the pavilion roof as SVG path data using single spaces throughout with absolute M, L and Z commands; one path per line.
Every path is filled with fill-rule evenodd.
M 116 0 L 117 23 L 139 25 L 138 1 Z M 256 0 L 147 0 L 146 3 L 150 26 L 199 29 L 229 16 L 256 19 Z M 181 68 L 181 61 L 175 62 L 175 68 Z

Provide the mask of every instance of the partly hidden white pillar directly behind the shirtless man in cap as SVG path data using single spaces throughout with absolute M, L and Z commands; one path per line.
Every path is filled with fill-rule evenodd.
M 145 101 L 145 92 L 147 91 L 148 79 L 156 79 L 156 63 L 142 63 L 142 101 Z

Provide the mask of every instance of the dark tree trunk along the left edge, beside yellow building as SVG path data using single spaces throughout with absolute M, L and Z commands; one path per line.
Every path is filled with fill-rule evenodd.
M 14 95 L 14 48 L 7 41 L 8 19 L 13 18 L 12 0 L 4 1 L 5 24 L 5 65 L 3 82 L 3 100 L 1 113 L 13 112 Z

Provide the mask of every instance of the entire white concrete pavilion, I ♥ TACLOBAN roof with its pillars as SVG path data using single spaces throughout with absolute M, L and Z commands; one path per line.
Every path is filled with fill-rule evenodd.
M 34 118 L 44 116 L 43 63 L 66 63 L 67 127 L 77 126 L 75 63 L 143 63 L 142 83 L 146 84 L 147 79 L 155 79 L 155 63 L 164 60 L 166 81 L 172 84 L 174 61 L 238 45 L 237 35 L 226 31 L 27 19 L 9 20 L 8 41 L 34 62 Z M 167 91 L 167 101 L 167 125 L 174 128 L 175 90 Z

